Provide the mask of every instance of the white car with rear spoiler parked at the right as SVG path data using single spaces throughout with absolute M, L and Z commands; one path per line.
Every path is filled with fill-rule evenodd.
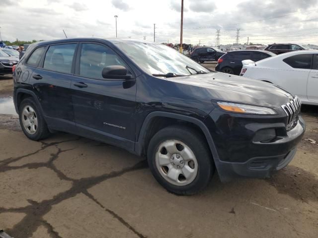
M 241 76 L 266 81 L 318 105 L 318 51 L 294 51 L 254 62 L 243 60 Z

